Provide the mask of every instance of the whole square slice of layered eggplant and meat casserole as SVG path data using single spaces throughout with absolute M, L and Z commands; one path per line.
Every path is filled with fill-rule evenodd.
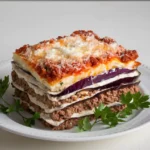
M 100 103 L 124 108 L 120 95 L 139 90 L 137 57 L 136 50 L 84 30 L 24 45 L 13 54 L 15 97 L 53 130 L 70 129 L 81 117 L 92 118 Z

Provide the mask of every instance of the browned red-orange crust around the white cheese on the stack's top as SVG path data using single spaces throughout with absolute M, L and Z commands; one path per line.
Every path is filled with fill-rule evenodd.
M 63 61 L 63 58 L 59 61 L 56 59 L 45 58 L 47 51 L 55 47 L 56 43 L 59 43 L 60 47 L 67 47 L 70 42 L 73 42 L 71 41 L 72 39 L 77 41 L 76 37 L 80 37 L 82 42 L 89 42 L 88 39 L 92 37 L 90 42 L 94 45 L 94 48 L 92 48 L 92 50 L 88 49 L 89 51 L 92 51 L 90 55 L 83 55 L 81 59 L 71 55 L 66 58 L 66 61 Z M 19 56 L 24 63 L 30 66 L 30 68 L 32 68 L 32 70 L 41 78 L 46 79 L 46 81 L 53 85 L 56 82 L 59 82 L 62 78 L 68 77 L 72 74 L 77 76 L 81 72 L 87 72 L 92 68 L 96 68 L 100 64 L 107 65 L 112 60 L 117 60 L 118 62 L 127 64 L 138 58 L 136 50 L 127 50 L 121 45 L 117 45 L 116 48 L 113 48 L 111 46 L 113 43 L 116 43 L 116 41 L 110 37 L 100 38 L 93 31 L 79 30 L 73 32 L 70 36 L 59 36 L 56 39 L 42 41 L 32 46 L 24 45 L 17 49 L 14 54 Z M 34 52 L 39 49 L 44 50 L 44 52 L 42 55 L 36 56 Z M 82 50 L 82 53 L 84 53 L 84 51 L 85 50 Z M 102 54 L 100 56 L 93 55 L 95 51 Z M 135 62 L 134 68 L 139 65 L 139 62 Z

